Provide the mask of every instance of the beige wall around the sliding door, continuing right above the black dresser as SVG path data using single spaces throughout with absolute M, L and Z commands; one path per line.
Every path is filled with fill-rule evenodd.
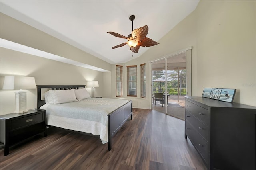
M 192 96 L 201 96 L 204 87 L 235 88 L 234 102 L 256 106 L 255 11 L 256 1 L 200 1 L 194 12 L 158 41 L 159 45 L 125 63 L 146 63 L 147 102 L 139 107 L 150 107 L 150 61 L 190 46 Z

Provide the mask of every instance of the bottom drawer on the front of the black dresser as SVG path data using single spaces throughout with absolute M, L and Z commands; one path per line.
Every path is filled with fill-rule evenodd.
M 194 129 L 194 127 L 186 121 L 186 135 L 193 143 L 194 147 L 198 150 L 199 154 L 202 156 L 206 164 L 208 164 L 209 154 L 208 154 L 208 142 Z

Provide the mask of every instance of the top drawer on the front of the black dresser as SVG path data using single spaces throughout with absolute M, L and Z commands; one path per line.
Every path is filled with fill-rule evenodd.
M 209 125 L 209 113 L 207 109 L 186 100 L 186 110 L 206 125 Z

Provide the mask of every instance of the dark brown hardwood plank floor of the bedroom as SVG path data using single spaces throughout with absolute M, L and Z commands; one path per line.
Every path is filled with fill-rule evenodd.
M 37 137 L 0 151 L 1 170 L 206 170 L 184 121 L 150 109 L 133 109 L 112 138 L 112 150 L 98 136 L 51 127 Z

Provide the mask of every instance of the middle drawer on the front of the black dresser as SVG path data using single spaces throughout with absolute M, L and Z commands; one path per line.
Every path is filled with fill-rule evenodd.
M 194 117 L 189 111 L 186 110 L 186 121 L 188 121 L 195 129 L 202 135 L 206 141 L 208 141 L 208 126 L 199 121 L 196 117 Z

